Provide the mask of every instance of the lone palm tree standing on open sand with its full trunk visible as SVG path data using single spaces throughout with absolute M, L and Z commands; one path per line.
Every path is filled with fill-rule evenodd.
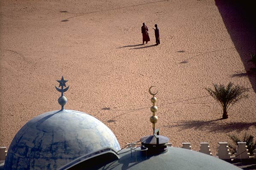
M 227 86 L 217 85 L 217 84 L 213 84 L 213 86 L 214 86 L 213 90 L 211 88 L 205 88 L 205 89 L 222 106 L 222 109 L 223 109 L 222 119 L 228 118 L 227 111 L 236 102 L 240 101 L 243 98 L 248 97 L 247 94 L 244 94 L 244 92 L 248 91 L 248 89 L 239 85 L 234 86 L 232 82 L 229 82 Z

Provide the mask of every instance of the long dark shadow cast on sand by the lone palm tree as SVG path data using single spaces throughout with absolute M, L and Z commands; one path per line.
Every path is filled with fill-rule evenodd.
M 187 120 L 182 122 L 176 122 L 175 125 L 166 125 L 165 127 L 180 127 L 180 130 L 194 128 L 196 130 L 206 130 L 209 132 L 232 132 L 248 129 L 251 126 L 256 127 L 256 122 L 224 122 L 224 119 L 216 120 Z

